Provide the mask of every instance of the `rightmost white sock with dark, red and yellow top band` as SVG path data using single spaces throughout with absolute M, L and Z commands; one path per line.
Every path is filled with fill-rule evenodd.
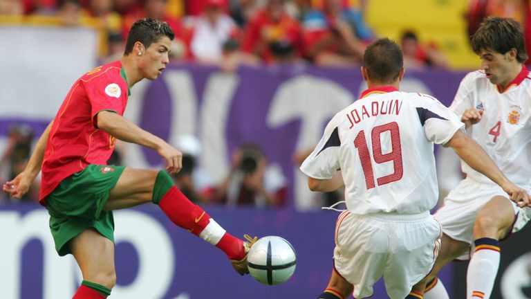
M 467 271 L 467 299 L 490 298 L 500 265 L 500 246 L 496 239 L 474 241 L 476 250 Z

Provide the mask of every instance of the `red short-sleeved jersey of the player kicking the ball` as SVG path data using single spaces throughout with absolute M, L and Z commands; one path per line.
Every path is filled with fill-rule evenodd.
M 98 66 L 75 82 L 59 108 L 50 129 L 44 161 L 40 203 L 66 177 L 88 164 L 106 164 L 115 138 L 97 129 L 97 113 L 115 111 L 122 116 L 129 88 L 120 61 Z

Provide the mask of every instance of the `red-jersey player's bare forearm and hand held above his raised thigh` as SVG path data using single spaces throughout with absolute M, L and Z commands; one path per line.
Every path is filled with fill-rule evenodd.
M 112 111 L 100 111 L 97 114 L 97 127 L 121 141 L 155 149 L 162 158 L 165 158 L 166 170 L 170 174 L 175 174 L 183 167 L 183 153 Z

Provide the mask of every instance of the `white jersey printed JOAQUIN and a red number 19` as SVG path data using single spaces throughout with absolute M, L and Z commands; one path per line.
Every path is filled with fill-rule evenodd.
M 438 199 L 434 143 L 447 143 L 463 127 L 436 98 L 368 89 L 330 120 L 301 170 L 315 179 L 342 170 L 353 214 L 425 212 Z

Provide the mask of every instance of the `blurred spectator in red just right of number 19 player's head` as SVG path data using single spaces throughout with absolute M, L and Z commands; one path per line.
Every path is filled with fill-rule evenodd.
M 404 66 L 407 68 L 447 68 L 448 66 L 445 55 L 438 50 L 436 44 L 430 43 L 427 46 L 422 46 L 412 30 L 406 30 L 402 33 L 401 44 L 404 53 Z

